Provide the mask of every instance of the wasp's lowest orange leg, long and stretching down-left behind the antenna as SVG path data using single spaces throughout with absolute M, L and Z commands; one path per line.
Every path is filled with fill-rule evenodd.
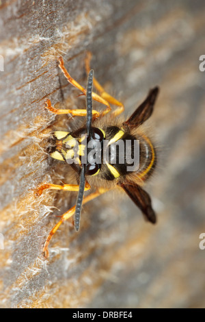
M 90 195 L 87 195 L 86 197 L 84 197 L 82 204 L 84 205 L 88 201 L 91 201 L 92 199 L 98 197 L 99 195 L 102 195 L 102 193 L 106 193 L 107 191 L 108 190 L 105 190 L 105 189 L 96 190 L 94 193 L 91 193 Z M 53 235 L 55 234 L 55 232 L 58 230 L 58 228 L 61 225 L 61 223 L 63 223 L 64 221 L 66 221 L 70 217 L 72 217 L 74 215 L 74 212 L 75 212 L 75 206 L 73 206 L 72 208 L 70 208 L 68 211 L 66 211 L 61 216 L 61 219 L 59 220 L 59 222 L 53 227 L 53 229 L 49 233 L 49 236 L 46 238 L 46 243 L 44 243 L 44 248 L 43 248 L 43 252 L 44 252 L 44 257 L 45 258 L 49 258 L 49 249 L 48 249 L 48 247 L 49 247 L 49 243 L 50 243 L 51 238 L 53 237 Z

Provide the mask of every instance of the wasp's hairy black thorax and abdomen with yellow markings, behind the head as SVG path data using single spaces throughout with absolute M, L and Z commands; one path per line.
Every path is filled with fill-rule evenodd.
M 150 177 L 156 166 L 156 150 L 148 137 L 143 134 L 134 136 L 122 128 L 111 126 L 106 129 L 106 139 L 109 140 L 109 159 L 102 165 L 100 177 L 110 181 L 133 172 L 142 181 Z M 135 140 L 139 143 L 137 154 L 135 154 Z M 129 149 L 126 148 L 128 141 Z M 127 153 L 130 154 L 132 160 L 138 158 L 135 160 L 137 167 L 134 171 L 128 170 L 132 164 L 127 162 Z

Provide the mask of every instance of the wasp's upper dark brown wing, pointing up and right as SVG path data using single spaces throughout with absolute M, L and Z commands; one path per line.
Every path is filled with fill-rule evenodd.
M 152 115 L 154 103 L 159 92 L 159 87 L 154 87 L 150 90 L 148 97 L 135 110 L 131 117 L 123 123 L 123 126 L 138 127 L 144 123 Z

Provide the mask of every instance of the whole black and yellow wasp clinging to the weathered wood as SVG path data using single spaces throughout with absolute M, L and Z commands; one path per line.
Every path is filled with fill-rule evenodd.
M 79 184 L 56 185 L 48 183 L 42 184 L 37 189 L 37 195 L 41 195 L 45 189 L 78 192 L 76 205 L 61 216 L 46 238 L 43 249 L 46 258 L 49 257 L 49 242 L 61 223 L 74 215 L 74 228 L 79 231 L 82 205 L 111 189 L 124 190 L 145 218 L 151 223 L 156 223 L 152 201 L 142 188 L 156 166 L 156 148 L 150 138 L 141 130 L 141 125 L 152 115 L 159 87 L 152 88 L 135 112 L 126 121 L 122 121 L 119 115 L 124 111 L 124 105 L 109 95 L 98 83 L 94 77 L 94 71 L 90 69 L 91 57 L 89 52 L 85 58 L 85 69 L 88 75 L 87 88 L 81 86 L 70 76 L 64 66 L 63 58 L 59 58 L 59 68 L 68 82 L 85 95 L 85 109 L 56 109 L 51 105 L 51 101 L 46 99 L 46 108 L 54 114 L 86 117 L 85 125 L 71 133 L 55 131 L 53 133 L 55 145 L 51 151 L 52 158 L 59 160 L 59 162 L 67 162 L 68 166 L 72 166 L 79 178 Z M 93 86 L 98 94 L 93 92 Z M 93 100 L 102 103 L 105 109 L 102 112 L 93 110 Z M 116 106 L 115 110 L 111 110 L 111 105 Z M 128 166 L 133 164 L 135 141 L 139 143 L 139 164 L 138 167 L 132 168 L 131 166 L 128 170 Z M 107 145 L 104 144 L 105 142 Z M 121 149 L 120 147 L 116 149 L 118 143 L 122 143 Z M 125 148 L 126 143 L 130 143 L 128 149 Z M 107 158 L 102 158 L 100 152 L 105 150 Z M 127 162 L 128 152 L 131 162 Z M 94 154 L 98 158 L 94 158 Z M 94 192 L 84 196 L 85 190 L 90 190 L 90 188 L 94 189 Z

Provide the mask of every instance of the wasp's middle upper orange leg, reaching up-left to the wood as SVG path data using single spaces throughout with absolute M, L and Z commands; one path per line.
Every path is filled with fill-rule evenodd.
M 78 88 L 79 90 L 81 90 L 81 92 L 83 92 L 83 95 L 86 95 L 86 89 L 81 86 L 78 82 L 76 82 L 68 73 L 68 71 L 66 70 L 65 66 L 64 66 L 64 60 L 62 57 L 59 57 L 59 68 L 61 69 L 61 71 L 64 73 L 65 77 L 68 79 L 68 82 L 70 84 L 72 84 L 74 87 Z M 107 108 L 103 111 L 104 114 L 107 114 L 110 110 L 111 107 L 109 105 L 109 102 L 106 101 L 105 99 L 103 99 L 102 97 L 100 97 L 100 95 L 96 94 L 95 92 L 92 92 L 92 98 L 95 101 L 98 101 L 99 103 L 104 104 L 105 106 L 107 106 Z M 85 115 L 86 115 L 86 111 L 85 111 Z

